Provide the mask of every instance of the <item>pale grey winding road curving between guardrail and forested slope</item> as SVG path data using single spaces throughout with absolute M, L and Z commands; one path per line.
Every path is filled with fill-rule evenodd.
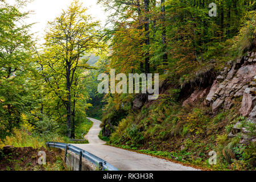
M 165 159 L 159 159 L 150 155 L 138 154 L 104 145 L 104 141 L 98 138 L 100 123 L 97 119 L 88 118 L 93 122 L 92 128 L 85 136 L 89 144 L 73 144 L 82 150 L 88 151 L 101 159 L 106 160 L 121 171 L 195 171 L 198 169 L 173 163 Z

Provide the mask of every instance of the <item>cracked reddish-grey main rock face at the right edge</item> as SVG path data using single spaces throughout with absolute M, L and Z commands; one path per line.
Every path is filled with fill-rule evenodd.
M 255 55 L 255 56 L 254 56 Z M 225 67 L 214 81 L 206 98 L 215 113 L 221 107 L 225 110 L 233 105 L 234 98 L 243 96 L 241 115 L 247 117 L 255 106 L 256 53 L 248 53 L 234 62 L 229 61 L 231 68 Z

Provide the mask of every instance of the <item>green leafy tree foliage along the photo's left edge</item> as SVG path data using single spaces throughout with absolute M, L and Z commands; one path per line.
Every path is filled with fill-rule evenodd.
M 34 41 L 31 25 L 23 20 L 28 13 L 21 13 L 22 1 L 16 6 L 0 3 L 0 138 L 10 135 L 23 120 L 31 115 L 40 101 L 33 57 Z M 26 4 L 26 1 L 24 1 Z

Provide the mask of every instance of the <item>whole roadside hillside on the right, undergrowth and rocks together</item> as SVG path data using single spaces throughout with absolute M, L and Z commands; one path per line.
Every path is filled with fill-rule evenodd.
M 205 77 L 184 85 L 179 97 L 164 81 L 158 100 L 135 98 L 110 144 L 205 168 L 255 169 L 255 49 Z M 209 164 L 210 151 L 216 165 Z

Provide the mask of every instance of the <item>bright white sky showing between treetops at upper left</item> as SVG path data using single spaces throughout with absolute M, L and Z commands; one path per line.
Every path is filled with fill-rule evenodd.
M 13 4 L 15 0 L 6 0 Z M 33 33 L 36 33 L 36 37 L 43 42 L 44 30 L 48 21 L 52 21 L 57 16 L 59 16 L 62 10 L 67 9 L 67 7 L 73 2 L 73 0 L 34 0 L 28 3 L 25 11 L 34 11 L 30 14 L 30 18 L 26 20 L 26 23 L 36 23 L 31 28 Z M 84 7 L 88 8 L 88 14 L 90 14 L 95 20 L 100 20 L 102 26 L 104 26 L 106 21 L 106 15 L 104 8 L 97 5 L 97 0 L 80 0 Z

